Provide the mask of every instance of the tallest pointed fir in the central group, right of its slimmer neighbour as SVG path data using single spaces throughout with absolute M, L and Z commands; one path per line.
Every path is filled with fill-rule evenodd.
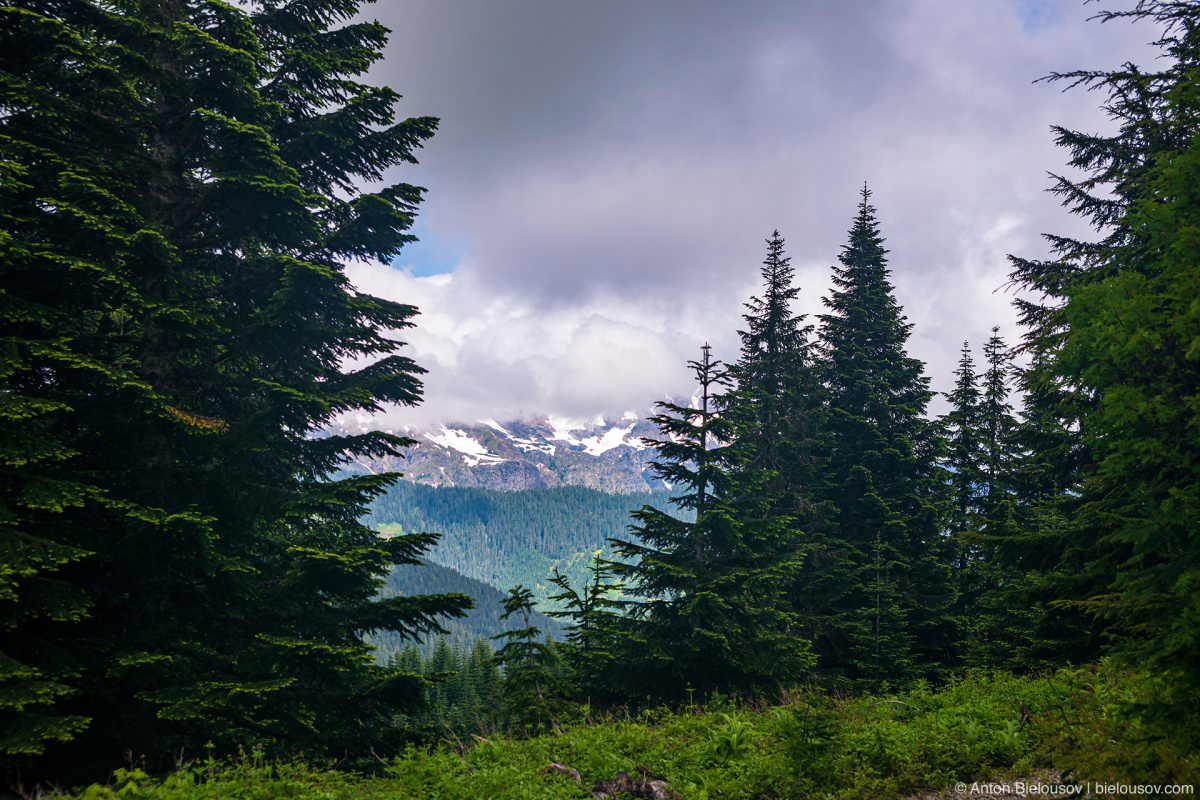
M 853 590 L 829 612 L 821 666 L 850 678 L 936 675 L 956 658 L 953 541 L 942 530 L 941 438 L 905 353 L 912 330 L 888 281 L 864 186 L 821 320 L 829 420 L 826 498 Z

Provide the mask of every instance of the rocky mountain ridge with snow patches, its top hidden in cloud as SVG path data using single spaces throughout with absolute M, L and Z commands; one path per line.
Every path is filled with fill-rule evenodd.
M 332 433 L 358 433 L 376 426 L 367 416 L 343 419 Z M 586 486 L 626 493 L 664 488 L 649 471 L 654 456 L 642 437 L 655 437 L 650 422 L 626 414 L 620 420 L 580 423 L 550 415 L 499 423 L 446 423 L 401 428 L 416 445 L 402 458 L 361 461 L 349 469 L 396 471 L 430 486 L 533 489 Z

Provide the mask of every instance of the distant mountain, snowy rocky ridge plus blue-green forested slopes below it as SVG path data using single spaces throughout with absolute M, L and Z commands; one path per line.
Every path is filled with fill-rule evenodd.
M 329 433 L 378 427 L 362 415 L 342 419 Z M 384 535 L 442 534 L 426 567 L 415 570 L 427 578 L 416 594 L 464 591 L 478 597 L 474 590 L 455 588 L 460 578 L 492 591 L 523 584 L 534 591 L 539 608 L 553 608 L 548 595 L 557 590 L 547 577 L 554 569 L 581 587 L 593 555 L 610 555 L 606 540 L 626 534 L 630 511 L 643 505 L 665 509 L 670 499 L 670 487 L 649 470 L 654 451 L 642 443 L 658 428 L 634 414 L 589 423 L 550 415 L 389 433 L 415 439 L 416 445 L 402 457 L 359 461 L 346 470 L 403 474 L 372 503 L 366 519 L 372 528 Z M 413 589 L 410 575 L 402 585 Z M 456 632 L 457 625 L 451 622 Z M 386 650 L 395 643 L 377 644 Z

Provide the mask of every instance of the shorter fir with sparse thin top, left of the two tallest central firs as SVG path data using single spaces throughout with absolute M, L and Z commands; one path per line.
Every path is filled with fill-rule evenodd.
M 626 697 L 774 691 L 811 666 L 786 599 L 802 563 L 788 545 L 791 521 L 763 512 L 761 473 L 738 469 L 734 426 L 716 404 L 730 383 L 725 366 L 707 344 L 689 366 L 696 403 L 659 403 L 662 438 L 646 440 L 684 513 L 643 506 L 634 512 L 635 537 L 610 540 L 626 559 L 608 567 L 629 599 L 608 626 L 608 680 Z

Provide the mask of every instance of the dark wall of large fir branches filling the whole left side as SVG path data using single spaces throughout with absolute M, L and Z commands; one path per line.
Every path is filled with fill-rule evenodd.
M 343 263 L 412 239 L 421 190 L 361 186 L 434 120 L 354 80 L 386 32 L 356 11 L 0 10 L 0 756 L 35 776 L 206 740 L 366 756 L 420 684 L 361 633 L 469 606 L 374 602 L 436 537 L 359 523 L 395 476 L 326 476 L 408 443 L 316 435 L 421 387 L 385 335 L 415 309 Z

